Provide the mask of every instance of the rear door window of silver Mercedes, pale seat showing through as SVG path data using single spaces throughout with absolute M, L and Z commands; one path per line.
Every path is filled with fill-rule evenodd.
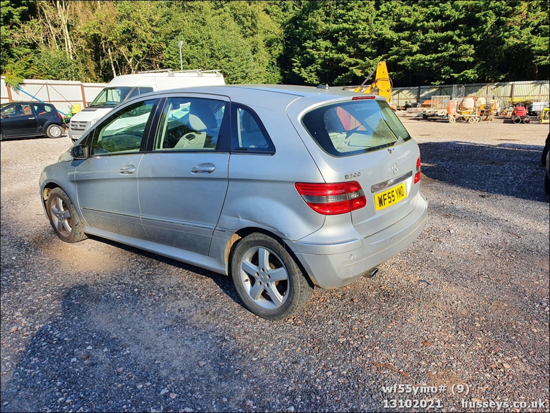
M 155 139 L 155 151 L 219 150 L 226 102 L 171 97 L 166 100 Z

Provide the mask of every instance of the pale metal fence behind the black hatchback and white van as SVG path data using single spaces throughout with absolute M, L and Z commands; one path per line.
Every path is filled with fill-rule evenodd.
M 20 90 L 18 90 L 8 87 L 2 76 L 0 101 L 2 103 L 32 101 L 34 99 L 29 96 L 32 95 L 41 101 L 52 103 L 59 112 L 66 113 L 69 106 L 75 103 L 79 103 L 85 108 L 86 104 L 93 101 L 106 85 L 106 83 L 82 83 L 71 80 L 25 79 L 19 85 Z

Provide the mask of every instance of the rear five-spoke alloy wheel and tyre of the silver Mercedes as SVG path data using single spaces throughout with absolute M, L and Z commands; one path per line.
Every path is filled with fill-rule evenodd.
M 267 320 L 292 316 L 313 294 L 313 287 L 292 256 L 265 234 L 250 234 L 239 241 L 231 273 L 245 307 Z

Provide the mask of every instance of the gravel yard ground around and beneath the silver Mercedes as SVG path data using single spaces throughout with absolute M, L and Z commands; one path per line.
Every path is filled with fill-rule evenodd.
M 37 181 L 69 138 L 3 141 L 2 411 L 547 411 L 548 125 L 402 119 L 421 147 L 426 229 L 375 278 L 317 289 L 281 322 L 244 309 L 228 277 L 58 240 Z M 447 390 L 382 391 L 394 384 Z

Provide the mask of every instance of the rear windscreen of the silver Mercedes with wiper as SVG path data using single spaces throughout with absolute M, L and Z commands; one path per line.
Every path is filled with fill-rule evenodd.
M 302 118 L 306 130 L 332 156 L 392 146 L 410 135 L 383 100 L 355 100 L 313 109 Z

